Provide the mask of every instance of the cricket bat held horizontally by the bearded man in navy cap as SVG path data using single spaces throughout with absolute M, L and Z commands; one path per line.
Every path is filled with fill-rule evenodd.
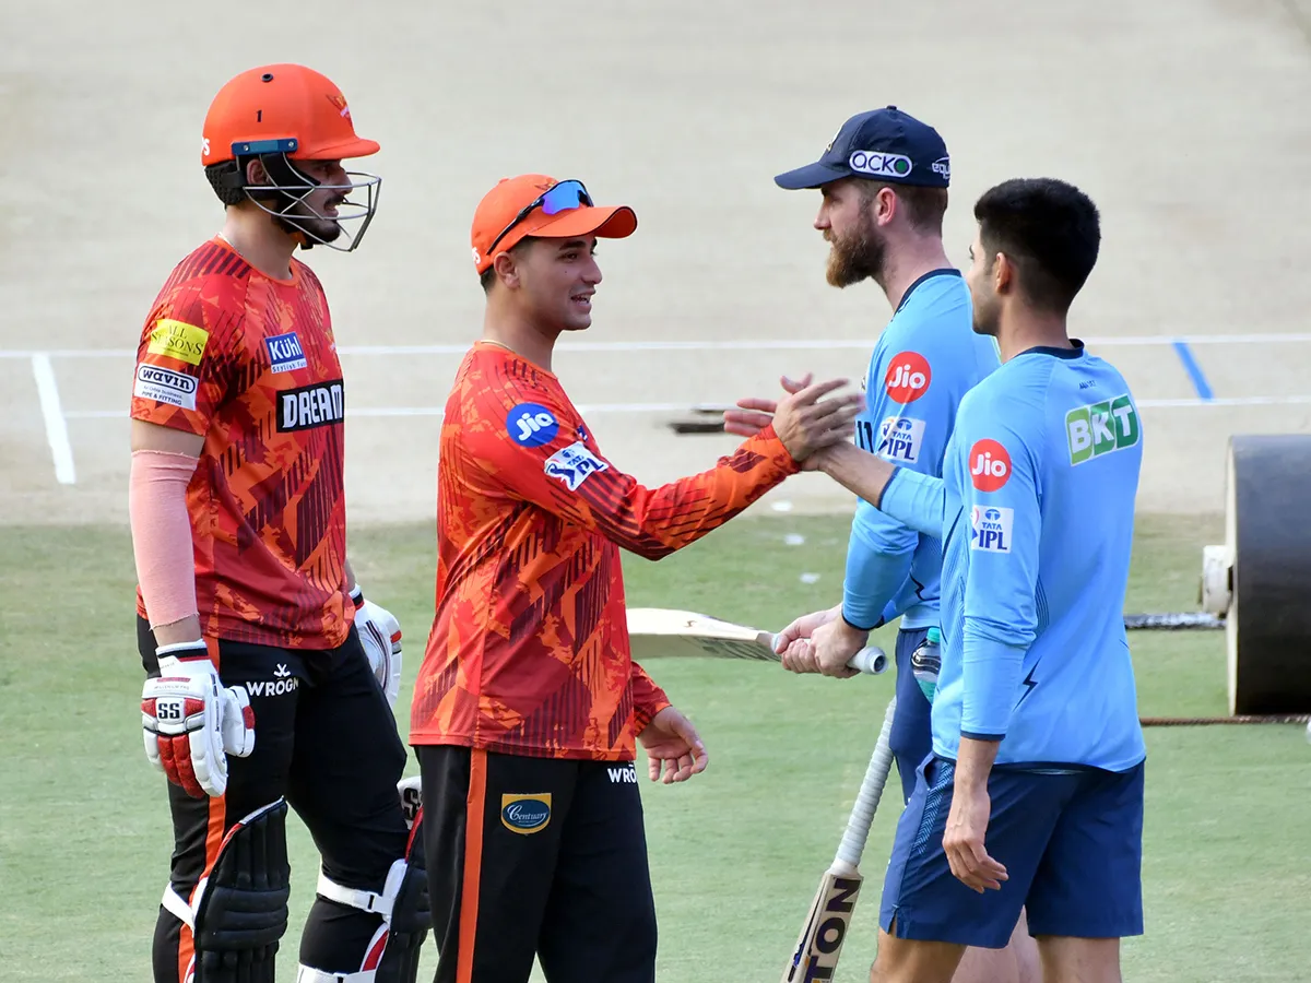
M 669 655 L 783 661 L 773 651 L 772 632 L 721 621 L 695 611 L 628 608 L 628 641 L 633 661 L 638 663 Z M 877 645 L 868 645 L 847 665 L 878 675 L 888 668 L 888 655 Z

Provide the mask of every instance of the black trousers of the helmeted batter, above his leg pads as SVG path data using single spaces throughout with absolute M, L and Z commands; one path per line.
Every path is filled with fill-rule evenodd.
M 155 636 L 136 619 L 142 665 L 159 675 Z M 215 644 L 210 642 L 211 657 Z M 405 856 L 408 830 L 396 782 L 405 744 L 368 657 L 351 628 L 328 650 L 277 649 L 219 640 L 219 678 L 244 684 L 254 710 L 254 751 L 228 756 L 228 788 L 191 798 L 168 784 L 173 814 L 169 879 L 184 900 L 210 869 L 223 835 L 243 817 L 286 796 L 313 836 L 324 873 L 346 887 L 382 891 Z M 317 872 L 305 872 L 309 882 Z M 328 973 L 359 969 L 379 915 L 316 898 L 300 937 L 300 962 Z M 156 983 L 178 983 L 191 959 L 191 932 L 160 908 Z

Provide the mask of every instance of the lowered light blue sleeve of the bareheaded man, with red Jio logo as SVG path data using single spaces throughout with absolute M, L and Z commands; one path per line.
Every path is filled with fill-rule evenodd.
M 961 735 L 1006 737 L 1013 708 L 1024 700 L 1024 655 L 1037 634 L 1041 412 L 1008 400 L 1004 410 L 983 405 L 962 427 L 966 451 L 962 505 L 969 511 L 965 565 L 965 625 L 961 638 Z M 1038 431 L 1041 433 L 1041 431 Z

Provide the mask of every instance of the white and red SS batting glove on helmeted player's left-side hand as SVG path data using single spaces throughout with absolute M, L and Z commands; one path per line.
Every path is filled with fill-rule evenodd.
M 142 687 L 146 758 L 194 798 L 228 788 L 227 755 L 254 750 L 254 710 L 245 687 L 225 687 L 205 642 L 156 649 L 159 678 Z

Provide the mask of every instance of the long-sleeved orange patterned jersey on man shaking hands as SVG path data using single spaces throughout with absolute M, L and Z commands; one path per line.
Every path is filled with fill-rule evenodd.
M 669 700 L 632 661 L 619 548 L 667 556 L 796 471 L 771 429 L 645 489 L 602 456 L 556 376 L 475 345 L 442 425 L 437 617 L 412 743 L 632 760 Z

